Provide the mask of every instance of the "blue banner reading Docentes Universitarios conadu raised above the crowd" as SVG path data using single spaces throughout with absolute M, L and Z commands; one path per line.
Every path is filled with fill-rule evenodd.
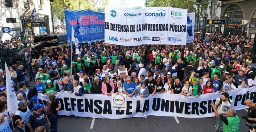
M 71 40 L 71 29 L 77 26 L 77 21 L 80 26 L 80 34 L 77 35 L 79 43 L 88 43 L 104 40 L 104 13 L 98 13 L 90 9 L 86 10 L 64 10 L 67 40 Z M 76 29 L 75 29 L 76 30 Z

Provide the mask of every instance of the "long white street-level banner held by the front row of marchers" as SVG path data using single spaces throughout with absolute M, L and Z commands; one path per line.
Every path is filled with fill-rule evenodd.
M 66 91 L 58 92 L 56 101 L 62 104 L 58 114 L 75 115 L 91 118 L 130 118 L 155 116 L 177 116 L 186 118 L 212 117 L 211 103 L 221 97 L 218 93 L 209 93 L 196 97 L 185 97 L 179 94 L 161 93 L 154 96 L 141 98 L 139 96 L 127 97 L 126 110 L 112 110 L 111 96 L 102 94 L 83 94 L 75 96 Z M 246 99 L 256 103 L 256 87 L 249 89 L 240 88 L 229 92 L 232 106 L 239 110 L 247 108 Z M 39 102 L 46 103 L 48 96 L 38 94 Z

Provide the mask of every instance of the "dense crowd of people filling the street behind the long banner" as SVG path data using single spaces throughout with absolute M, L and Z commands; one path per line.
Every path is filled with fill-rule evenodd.
M 253 47 L 253 39 L 245 36 L 195 33 L 194 42 L 186 46 L 123 47 L 104 41 L 91 46 L 81 44 L 79 54 L 72 47 L 73 55 L 69 47 L 46 50 L 37 58 L 27 50 L 26 62 L 20 62 L 17 53 L 10 58 L 5 70 L 9 70 L 15 86 L 19 109 L 7 112 L 5 72 L 0 70 L 0 127 L 9 122 L 15 126 L 14 131 L 40 131 L 50 126 L 56 132 L 61 104 L 54 94 L 63 91 L 75 96 L 124 93 L 146 98 L 170 93 L 197 98 L 256 86 L 253 67 L 247 65 L 253 54 L 241 50 L 241 46 Z M 126 77 L 118 74 L 119 66 L 127 68 Z M 49 96 L 47 105 L 38 102 L 39 93 Z

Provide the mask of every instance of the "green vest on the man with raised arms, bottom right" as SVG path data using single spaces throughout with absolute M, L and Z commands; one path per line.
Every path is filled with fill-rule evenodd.
M 236 115 L 236 116 L 226 116 L 226 118 L 228 119 L 228 125 L 226 125 L 223 122 L 223 131 L 224 132 L 240 132 L 239 117 Z

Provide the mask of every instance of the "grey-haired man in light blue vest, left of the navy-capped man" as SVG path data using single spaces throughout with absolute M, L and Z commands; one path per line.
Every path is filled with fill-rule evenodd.
M 18 106 L 19 106 L 19 108 L 18 108 L 18 110 L 16 111 L 16 113 L 14 115 L 14 122 L 17 119 L 23 119 L 26 123 L 25 131 L 29 131 L 29 129 L 28 129 L 28 118 L 29 118 L 29 115 L 30 115 L 30 110 L 28 108 L 27 102 L 25 100 L 22 100 L 22 101 L 19 102 Z

